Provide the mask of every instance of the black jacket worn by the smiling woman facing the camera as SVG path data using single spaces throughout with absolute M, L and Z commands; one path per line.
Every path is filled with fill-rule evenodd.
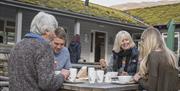
M 136 47 L 130 48 L 126 51 L 120 51 L 119 53 L 112 52 L 111 60 L 109 63 L 108 71 L 119 72 L 122 68 L 122 60 L 125 57 L 124 71 L 129 75 L 134 75 L 137 71 L 138 64 L 138 49 Z

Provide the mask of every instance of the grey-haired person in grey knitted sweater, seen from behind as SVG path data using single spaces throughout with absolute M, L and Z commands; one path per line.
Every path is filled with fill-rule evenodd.
M 54 73 L 54 55 L 49 41 L 58 23 L 54 16 L 40 12 L 27 33 L 16 44 L 9 58 L 10 91 L 55 91 L 69 75 L 68 70 Z

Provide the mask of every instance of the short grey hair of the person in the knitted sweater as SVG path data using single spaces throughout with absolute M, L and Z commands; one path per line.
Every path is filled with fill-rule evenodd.
M 53 15 L 39 12 L 31 22 L 30 32 L 43 35 L 53 32 L 58 27 L 58 22 Z

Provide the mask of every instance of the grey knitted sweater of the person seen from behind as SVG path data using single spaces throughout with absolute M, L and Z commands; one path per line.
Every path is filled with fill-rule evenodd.
M 11 51 L 10 91 L 55 91 L 64 81 L 54 73 L 54 56 L 48 42 L 25 38 Z

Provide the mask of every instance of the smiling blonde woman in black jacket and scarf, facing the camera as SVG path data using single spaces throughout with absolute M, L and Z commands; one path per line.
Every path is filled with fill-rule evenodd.
M 127 31 L 116 35 L 107 71 L 119 72 L 119 75 L 134 75 L 137 70 L 138 50 Z

